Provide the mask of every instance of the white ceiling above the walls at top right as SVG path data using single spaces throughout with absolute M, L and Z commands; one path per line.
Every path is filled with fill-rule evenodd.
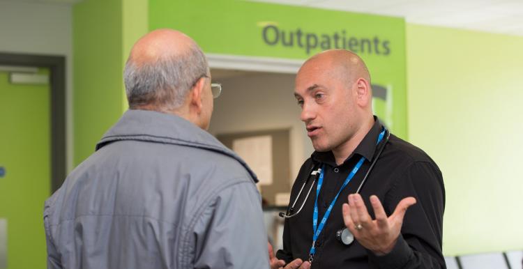
M 404 17 L 409 23 L 523 36 L 523 0 L 251 0 Z

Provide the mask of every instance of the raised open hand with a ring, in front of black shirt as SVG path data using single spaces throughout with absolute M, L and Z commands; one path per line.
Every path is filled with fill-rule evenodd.
M 381 202 L 376 195 L 370 197 L 376 220 L 370 217 L 360 194 L 350 194 L 349 203 L 343 204 L 343 221 L 345 226 L 363 247 L 374 254 L 385 255 L 391 252 L 396 244 L 407 208 L 416 203 L 414 197 L 402 199 L 394 213 L 387 217 Z

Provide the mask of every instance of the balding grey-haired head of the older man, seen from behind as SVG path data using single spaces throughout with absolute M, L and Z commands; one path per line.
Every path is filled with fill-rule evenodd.
M 126 63 L 129 107 L 178 109 L 195 82 L 205 76 L 209 66 L 194 40 L 171 29 L 151 31 L 135 43 Z

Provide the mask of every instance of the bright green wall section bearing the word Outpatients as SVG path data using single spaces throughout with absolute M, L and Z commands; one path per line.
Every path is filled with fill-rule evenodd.
M 287 43 L 292 32 L 293 45 L 283 45 L 282 36 L 276 42 L 275 31 L 266 27 L 285 32 L 282 36 L 287 38 Z M 321 44 L 327 44 L 326 40 L 330 40 L 330 48 L 335 48 L 335 34 L 338 35 L 339 47 L 345 43 L 349 48 L 349 40 L 354 37 L 358 44 L 364 44 L 356 45 L 354 49 L 367 63 L 372 83 L 385 86 L 392 96 L 392 111 L 388 115 L 385 113 L 390 109 L 376 102 L 377 112 L 384 113 L 379 116 L 387 120 L 395 134 L 407 137 L 405 28 L 402 18 L 251 1 L 150 0 L 149 29 L 158 28 L 187 33 L 207 54 L 303 60 L 321 52 Z M 301 38 L 298 38 L 298 29 Z M 308 35 L 317 36 L 316 47 L 307 49 Z M 370 40 L 370 47 L 363 40 Z M 390 49 L 388 54 L 385 47 Z

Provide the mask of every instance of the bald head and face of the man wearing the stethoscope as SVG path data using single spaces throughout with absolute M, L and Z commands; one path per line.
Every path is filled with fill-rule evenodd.
M 365 63 L 353 52 L 332 49 L 312 56 L 296 75 L 294 96 L 316 151 L 332 151 L 342 164 L 374 123 Z

